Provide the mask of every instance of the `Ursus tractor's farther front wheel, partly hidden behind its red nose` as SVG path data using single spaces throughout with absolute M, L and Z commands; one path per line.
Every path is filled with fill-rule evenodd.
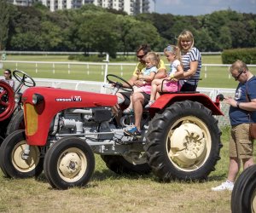
M 30 146 L 28 158 L 23 158 L 25 147 L 25 130 L 17 130 L 3 141 L 0 147 L 0 166 L 6 176 L 27 178 L 38 176 L 43 171 L 44 158 L 40 158 L 40 148 Z

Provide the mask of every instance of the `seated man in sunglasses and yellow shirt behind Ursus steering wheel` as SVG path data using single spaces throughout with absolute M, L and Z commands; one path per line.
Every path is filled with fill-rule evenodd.
M 146 62 L 145 62 L 145 56 L 150 52 L 151 49 L 148 44 L 142 44 L 138 49 L 137 49 L 137 59 L 138 63 L 137 66 L 135 67 L 135 70 L 131 76 L 131 78 L 128 80 L 128 83 L 130 83 L 132 86 L 137 86 L 141 87 L 146 82 L 141 79 L 138 79 L 138 75 L 140 72 L 142 72 L 143 68 L 146 67 Z M 166 77 L 166 66 L 163 60 L 160 60 L 160 63 L 157 66 L 158 71 L 155 74 L 154 78 L 165 78 Z M 124 86 L 129 87 L 128 85 Z M 143 107 L 148 104 L 148 101 L 150 99 L 150 95 L 146 93 L 136 93 L 132 95 L 132 100 L 131 99 L 131 93 L 129 92 L 120 92 L 117 93 L 117 96 L 119 97 L 119 100 L 122 100 L 123 102 L 121 104 L 124 104 L 125 106 L 129 106 L 130 101 L 134 103 L 134 114 L 135 114 L 135 124 L 136 126 L 140 126 L 140 121 L 143 115 Z M 133 112 L 132 112 L 133 113 Z M 140 134 L 140 128 L 135 127 L 132 129 L 132 131 L 129 131 L 129 135 L 137 136 L 138 138 L 141 136 Z

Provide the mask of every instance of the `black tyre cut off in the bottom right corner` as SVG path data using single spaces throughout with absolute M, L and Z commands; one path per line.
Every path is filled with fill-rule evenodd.
M 256 212 L 256 165 L 244 170 L 237 178 L 231 196 L 233 213 Z

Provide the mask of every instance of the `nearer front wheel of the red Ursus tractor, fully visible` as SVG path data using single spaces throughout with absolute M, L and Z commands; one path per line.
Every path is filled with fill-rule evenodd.
M 56 141 L 44 157 L 44 174 L 52 187 L 67 189 L 86 185 L 95 169 L 90 146 L 74 136 Z

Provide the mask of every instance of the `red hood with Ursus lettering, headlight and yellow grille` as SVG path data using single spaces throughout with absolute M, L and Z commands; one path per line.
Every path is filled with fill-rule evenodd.
M 70 89 L 33 87 L 22 95 L 26 142 L 44 146 L 49 126 L 58 112 L 71 108 L 113 107 L 116 95 L 98 94 Z

